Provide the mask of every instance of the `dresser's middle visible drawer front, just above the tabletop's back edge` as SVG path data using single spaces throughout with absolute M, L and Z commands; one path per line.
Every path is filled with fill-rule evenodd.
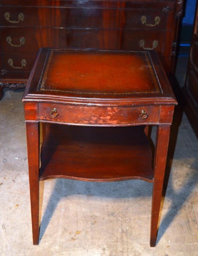
M 4 52 L 37 53 L 41 47 L 78 47 L 143 50 L 155 49 L 170 55 L 171 34 L 155 31 L 116 29 L 2 28 Z M 170 34 L 170 36 L 168 36 Z M 167 47 L 164 47 L 167 45 Z

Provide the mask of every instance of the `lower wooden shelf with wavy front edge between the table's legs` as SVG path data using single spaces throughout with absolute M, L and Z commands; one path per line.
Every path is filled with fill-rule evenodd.
M 153 182 L 152 152 L 143 126 L 43 125 L 40 180 Z

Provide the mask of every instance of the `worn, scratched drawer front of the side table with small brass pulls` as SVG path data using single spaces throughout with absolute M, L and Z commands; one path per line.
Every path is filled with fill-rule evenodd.
M 159 106 L 96 107 L 39 103 L 40 121 L 80 125 L 151 124 L 159 121 Z

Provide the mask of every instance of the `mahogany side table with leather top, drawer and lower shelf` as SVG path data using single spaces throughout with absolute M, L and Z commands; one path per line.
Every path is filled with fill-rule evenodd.
M 39 180 L 141 179 L 153 182 L 155 246 L 177 104 L 157 54 L 40 49 L 23 101 L 33 244 L 39 240 Z M 150 125 L 157 125 L 154 155 L 145 132 Z

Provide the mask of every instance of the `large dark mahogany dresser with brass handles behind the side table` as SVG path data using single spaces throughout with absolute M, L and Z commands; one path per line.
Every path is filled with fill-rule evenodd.
M 174 73 L 183 0 L 1 0 L 0 91 L 26 83 L 41 47 L 156 50 Z

